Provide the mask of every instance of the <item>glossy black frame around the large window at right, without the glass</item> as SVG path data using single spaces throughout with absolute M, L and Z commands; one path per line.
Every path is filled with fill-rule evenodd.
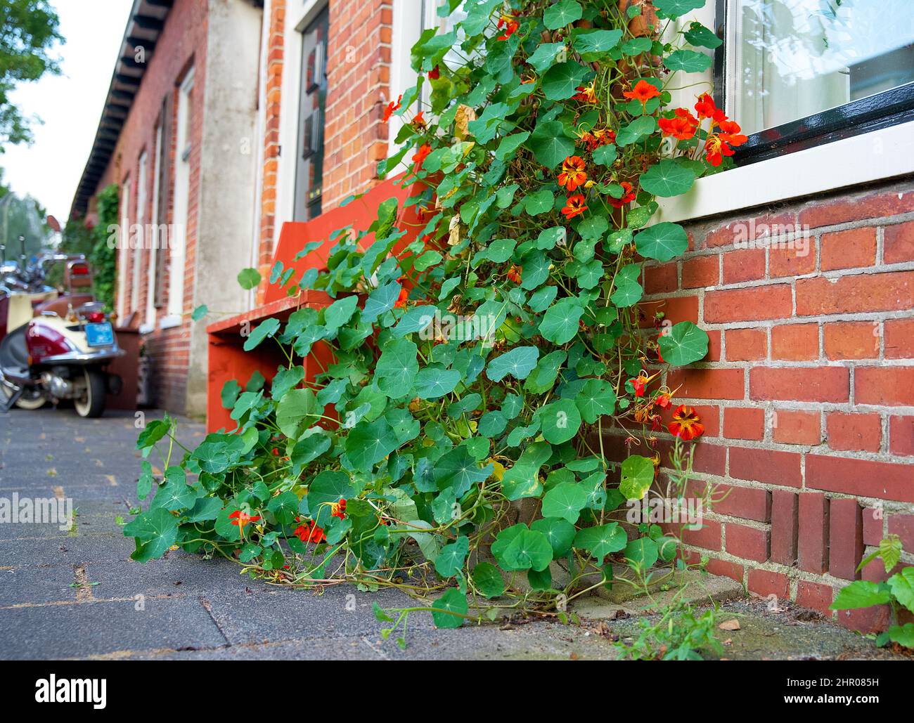
M 727 107 L 729 5 L 728 0 L 717 0 L 715 6 L 715 30 L 724 41 L 714 51 L 714 100 L 719 108 Z M 734 120 L 739 122 L 739 118 Z M 914 121 L 914 81 L 752 133 L 749 141 L 735 149 L 733 160 L 748 165 L 907 121 Z

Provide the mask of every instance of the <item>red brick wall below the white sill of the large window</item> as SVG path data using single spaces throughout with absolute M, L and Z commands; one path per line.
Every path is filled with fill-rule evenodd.
M 797 234 L 735 243 L 772 223 L 808 233 L 808 253 Z M 750 592 L 831 614 L 887 533 L 914 553 L 914 183 L 687 230 L 685 257 L 645 269 L 644 309 L 710 336 L 707 359 L 665 381 L 706 424 L 696 485 L 730 494 L 685 540 Z M 885 613 L 838 619 L 869 629 Z

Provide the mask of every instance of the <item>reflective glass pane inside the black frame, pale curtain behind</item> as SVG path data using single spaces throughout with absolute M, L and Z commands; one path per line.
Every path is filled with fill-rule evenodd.
M 734 5 L 733 116 L 744 132 L 914 80 L 911 0 L 737 0 Z

